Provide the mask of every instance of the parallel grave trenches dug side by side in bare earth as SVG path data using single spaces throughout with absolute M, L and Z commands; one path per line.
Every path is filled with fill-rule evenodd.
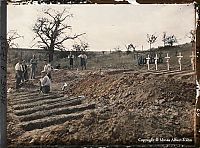
M 29 94 L 34 96 L 35 94 Z M 60 95 L 63 96 L 63 95 Z M 34 96 L 17 99 L 12 105 L 15 115 L 19 118 L 21 126 L 25 131 L 43 129 L 52 125 L 63 124 L 66 121 L 78 120 L 95 109 L 95 104 L 83 104 L 82 97 L 59 97 L 58 94 L 49 96 Z M 52 98 L 53 97 L 53 98 Z M 34 102 L 30 103 L 35 99 Z M 14 100 L 13 100 L 14 101 Z

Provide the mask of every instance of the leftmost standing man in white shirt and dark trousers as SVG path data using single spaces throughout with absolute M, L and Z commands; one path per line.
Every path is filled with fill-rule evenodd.
M 22 60 L 19 59 L 18 63 L 15 65 L 15 79 L 16 79 L 15 88 L 16 89 L 20 88 L 20 84 L 22 81 L 22 75 L 23 75 Z

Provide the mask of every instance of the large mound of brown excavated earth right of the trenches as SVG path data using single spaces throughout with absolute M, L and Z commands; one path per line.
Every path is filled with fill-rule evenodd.
M 193 136 L 192 83 L 139 73 L 92 74 L 72 87 L 71 93 L 85 95 L 86 101 L 94 101 L 103 109 L 93 119 L 95 128 L 87 132 L 99 133 L 94 139 L 102 142 Z

